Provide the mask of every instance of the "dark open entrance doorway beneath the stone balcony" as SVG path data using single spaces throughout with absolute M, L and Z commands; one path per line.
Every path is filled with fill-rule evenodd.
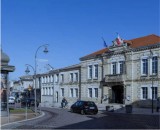
M 112 87 L 112 102 L 123 104 L 124 90 L 123 86 L 113 86 Z

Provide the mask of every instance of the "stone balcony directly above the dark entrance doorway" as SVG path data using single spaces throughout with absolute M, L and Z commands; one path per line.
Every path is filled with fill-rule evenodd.
M 110 74 L 105 76 L 105 82 L 124 82 L 126 79 L 125 74 Z

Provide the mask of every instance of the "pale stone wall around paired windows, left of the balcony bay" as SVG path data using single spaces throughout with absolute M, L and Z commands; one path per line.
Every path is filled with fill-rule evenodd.
M 88 78 L 88 66 L 89 65 L 95 65 L 98 64 L 98 78 L 94 78 L 92 76 L 92 79 Z M 82 100 L 89 100 L 94 101 L 96 103 L 101 102 L 101 95 L 102 90 L 100 87 L 100 81 L 102 80 L 102 62 L 101 59 L 92 59 L 92 60 L 86 60 L 81 62 L 81 95 Z M 93 74 L 93 72 L 92 72 Z M 88 97 L 88 88 L 92 88 L 92 95 L 93 97 Z M 98 88 L 98 98 L 94 97 L 94 88 Z

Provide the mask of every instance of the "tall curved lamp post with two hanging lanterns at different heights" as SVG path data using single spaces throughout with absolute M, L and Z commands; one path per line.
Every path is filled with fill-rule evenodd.
M 34 95 L 35 95 L 35 113 L 37 113 L 37 92 L 36 92 L 36 90 L 37 90 L 37 82 L 36 82 L 36 76 L 37 76 L 37 53 L 38 53 L 38 50 L 40 49 L 40 48 L 42 48 L 42 47 L 44 47 L 44 53 L 48 53 L 48 49 L 47 49 L 47 46 L 48 46 L 48 44 L 44 44 L 44 45 L 41 45 L 41 46 L 39 46 L 38 48 L 37 48 L 37 50 L 36 50 L 36 53 L 35 53 L 35 67 L 33 68 L 31 65 L 29 65 L 29 64 L 27 64 L 28 66 L 30 66 L 32 69 L 33 69 L 33 71 L 34 71 L 34 79 L 35 79 L 35 83 L 34 83 L 34 88 L 35 88 L 35 91 L 34 91 Z M 27 67 L 28 68 L 28 67 Z M 27 70 L 26 69 L 26 71 L 25 72 L 30 72 L 29 71 L 29 69 Z

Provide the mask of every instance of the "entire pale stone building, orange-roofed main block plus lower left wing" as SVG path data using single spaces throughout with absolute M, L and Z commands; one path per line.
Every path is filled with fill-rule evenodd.
M 117 41 L 80 58 L 80 63 L 37 77 L 41 104 L 60 106 L 65 97 L 97 104 L 151 107 L 160 97 L 160 37 Z

